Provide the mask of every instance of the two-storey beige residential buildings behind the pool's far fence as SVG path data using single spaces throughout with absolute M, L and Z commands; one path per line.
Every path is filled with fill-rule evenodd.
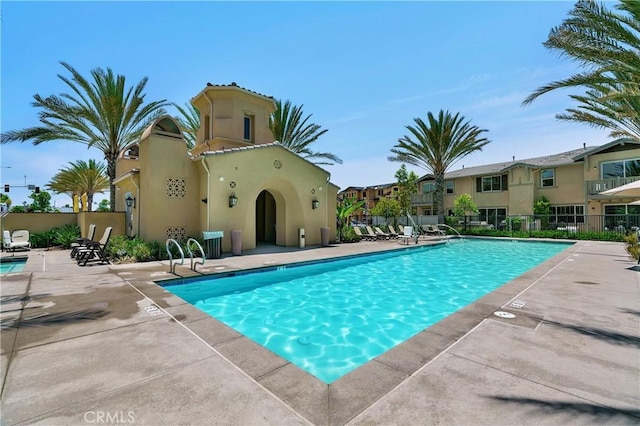
M 609 220 L 609 216 L 640 217 L 640 205 L 634 204 L 640 200 L 640 190 L 637 194 L 600 193 L 636 180 L 640 180 L 640 142 L 632 139 L 525 160 L 514 158 L 446 173 L 445 215 L 453 214 L 458 196 L 470 194 L 480 210 L 479 221 L 498 226 L 507 216 L 532 215 L 535 201 L 544 196 L 551 203 L 551 221 L 580 223 L 589 215 L 605 216 L 598 223 L 610 226 L 615 220 Z M 371 209 L 381 197 L 396 197 L 394 185 L 348 187 L 340 196 L 366 200 Z M 412 197 L 417 215 L 436 215 L 433 176 L 421 177 L 417 189 Z M 359 212 L 356 218 L 361 220 L 366 215 Z

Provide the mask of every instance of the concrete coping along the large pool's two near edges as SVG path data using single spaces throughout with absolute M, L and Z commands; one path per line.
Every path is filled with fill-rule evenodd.
M 493 312 L 506 310 L 516 296 L 571 256 L 575 250 L 575 244 L 568 244 L 565 250 L 535 268 L 424 329 L 330 385 L 215 318 L 201 318 L 201 311 L 186 302 L 179 304 L 180 315 L 183 317 L 174 317 L 229 362 L 312 423 L 342 425 L 445 352 L 485 319 L 492 318 Z M 464 264 L 461 264 L 461 267 L 464 267 Z M 167 308 L 169 313 L 175 310 L 176 303 L 181 300 L 177 296 L 171 297 L 171 293 L 153 281 L 130 282 L 158 306 Z M 173 302 L 170 306 L 166 302 L 167 297 Z

